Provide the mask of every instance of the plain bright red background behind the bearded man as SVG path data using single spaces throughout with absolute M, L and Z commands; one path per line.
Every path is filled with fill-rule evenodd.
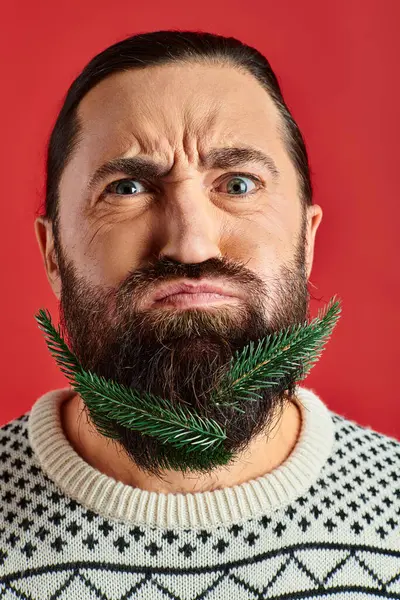
M 67 87 L 122 37 L 187 28 L 261 50 L 305 135 L 324 210 L 312 315 L 333 294 L 343 312 L 303 385 L 332 410 L 400 438 L 400 2 L 20 0 L 1 12 L 0 424 L 67 385 L 34 319 L 46 307 L 58 322 L 33 229 Z

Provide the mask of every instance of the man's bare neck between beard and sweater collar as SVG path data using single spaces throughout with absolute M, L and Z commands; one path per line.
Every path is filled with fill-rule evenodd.
M 121 444 L 95 430 L 78 394 L 62 404 L 61 423 L 74 450 L 101 473 L 149 492 L 194 493 L 238 485 L 279 467 L 296 445 L 301 413 L 295 399 L 287 402 L 268 435 L 253 438 L 232 465 L 214 469 L 208 474 L 191 475 L 165 470 L 161 477 L 140 470 Z

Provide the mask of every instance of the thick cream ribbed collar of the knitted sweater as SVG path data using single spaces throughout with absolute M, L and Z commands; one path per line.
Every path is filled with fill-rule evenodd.
M 29 441 L 46 475 L 70 498 L 107 518 L 161 528 L 214 528 L 271 513 L 304 494 L 334 442 L 331 412 L 311 390 L 297 387 L 302 425 L 296 446 L 279 467 L 246 483 L 212 492 L 157 493 L 116 481 L 86 463 L 61 426 L 60 406 L 72 388 L 41 396 L 29 415 Z

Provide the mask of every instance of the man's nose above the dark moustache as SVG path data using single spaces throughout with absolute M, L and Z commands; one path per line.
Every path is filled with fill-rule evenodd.
M 178 187 L 178 186 L 177 186 Z M 179 186 L 169 195 L 160 223 L 160 255 L 181 263 L 220 257 L 219 210 L 199 184 Z

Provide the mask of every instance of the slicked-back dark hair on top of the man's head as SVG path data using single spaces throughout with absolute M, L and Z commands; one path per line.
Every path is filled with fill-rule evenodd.
M 77 107 L 107 76 L 178 61 L 225 62 L 251 73 L 269 93 L 283 122 L 287 151 L 298 173 L 303 205 L 312 203 L 312 186 L 303 137 L 282 96 L 268 60 L 255 48 L 233 37 L 195 31 L 154 31 L 128 37 L 97 54 L 70 86 L 50 136 L 47 150 L 45 215 L 58 233 L 58 192 L 63 170 L 78 142 Z

